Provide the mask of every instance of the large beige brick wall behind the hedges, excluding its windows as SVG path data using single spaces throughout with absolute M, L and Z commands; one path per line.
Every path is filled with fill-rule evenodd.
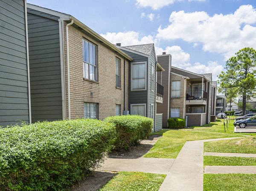
M 98 41 L 92 39 L 74 26 L 69 26 L 69 57 L 70 57 L 70 111 L 71 118 L 84 116 L 84 102 L 99 103 L 99 120 L 116 114 L 116 104 L 124 109 L 124 59 Z M 83 78 L 82 39 L 85 38 L 97 45 L 97 77 L 98 82 Z M 66 47 L 66 40 L 65 40 Z M 66 50 L 66 48 L 65 48 Z M 121 59 L 121 88 L 116 88 L 116 57 Z M 67 52 L 65 52 L 65 83 L 66 83 L 66 116 L 67 103 Z M 125 61 L 125 107 L 128 109 L 128 61 Z M 90 96 L 90 92 L 93 96 Z

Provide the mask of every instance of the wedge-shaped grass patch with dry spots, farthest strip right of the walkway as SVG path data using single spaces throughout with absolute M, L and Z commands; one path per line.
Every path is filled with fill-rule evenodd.
M 205 142 L 204 152 L 256 154 L 256 135 L 233 140 Z

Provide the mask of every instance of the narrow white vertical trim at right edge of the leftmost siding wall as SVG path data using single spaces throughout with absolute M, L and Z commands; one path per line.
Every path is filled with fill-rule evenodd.
M 31 119 L 31 95 L 30 95 L 30 72 L 29 72 L 29 34 L 28 34 L 28 17 L 26 0 L 24 1 L 25 11 L 25 25 L 26 25 L 26 58 L 27 58 L 27 73 L 28 73 L 28 98 L 29 98 L 29 123 L 32 123 Z

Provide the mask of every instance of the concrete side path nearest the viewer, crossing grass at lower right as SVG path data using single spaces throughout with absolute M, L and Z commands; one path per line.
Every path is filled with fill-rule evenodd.
M 205 174 L 256 174 L 256 166 L 205 166 Z

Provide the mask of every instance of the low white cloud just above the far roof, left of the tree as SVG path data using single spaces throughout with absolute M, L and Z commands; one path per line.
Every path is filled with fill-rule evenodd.
M 201 63 L 195 63 L 194 65 L 187 66 L 184 69 L 195 72 L 197 74 L 212 73 L 212 81 L 216 81 L 218 80 L 217 76 L 221 73 L 221 71 L 224 70 L 224 67 L 218 64 L 218 62 L 209 61 L 207 65 L 204 65 Z

